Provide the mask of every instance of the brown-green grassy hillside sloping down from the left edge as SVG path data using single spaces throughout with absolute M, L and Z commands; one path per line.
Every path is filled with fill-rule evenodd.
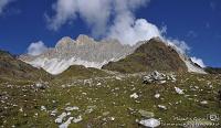
M 0 51 L 0 77 L 38 79 L 50 77 L 50 74 L 43 70 L 32 67 L 8 52 Z

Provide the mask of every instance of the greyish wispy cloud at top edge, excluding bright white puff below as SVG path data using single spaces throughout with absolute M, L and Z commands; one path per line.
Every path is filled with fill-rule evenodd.
M 94 36 L 104 36 L 109 31 L 109 23 L 117 17 L 130 14 L 149 0 L 57 0 L 53 6 L 55 12 L 46 14 L 49 29 L 57 31 L 67 22 L 81 18 L 92 30 Z M 112 18 L 112 19 L 110 19 Z M 113 20 L 113 21 L 112 21 Z

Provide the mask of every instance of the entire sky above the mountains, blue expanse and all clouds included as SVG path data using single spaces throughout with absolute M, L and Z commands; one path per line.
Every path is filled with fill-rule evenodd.
M 221 67 L 220 0 L 0 0 L 0 49 L 38 55 L 63 36 L 160 36 L 200 65 Z

